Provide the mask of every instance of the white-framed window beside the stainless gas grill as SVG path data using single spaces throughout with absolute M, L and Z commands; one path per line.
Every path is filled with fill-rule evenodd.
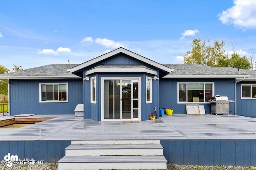
M 207 102 L 214 96 L 214 82 L 178 82 L 178 103 Z

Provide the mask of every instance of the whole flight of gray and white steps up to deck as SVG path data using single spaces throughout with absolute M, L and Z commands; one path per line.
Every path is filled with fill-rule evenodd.
M 59 170 L 166 170 L 159 140 L 71 141 Z

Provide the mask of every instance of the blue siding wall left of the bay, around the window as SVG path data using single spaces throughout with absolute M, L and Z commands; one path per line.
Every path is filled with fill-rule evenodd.
M 39 83 L 68 82 L 68 102 L 39 103 Z M 10 80 L 10 115 L 74 114 L 83 103 L 82 80 Z

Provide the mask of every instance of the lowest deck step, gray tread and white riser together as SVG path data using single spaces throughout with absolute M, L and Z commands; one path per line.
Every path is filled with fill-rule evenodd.
M 166 169 L 164 156 L 64 156 L 59 170 Z

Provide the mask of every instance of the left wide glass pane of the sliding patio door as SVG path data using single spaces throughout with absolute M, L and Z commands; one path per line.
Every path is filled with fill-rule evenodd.
M 104 80 L 104 119 L 120 119 L 120 80 Z

